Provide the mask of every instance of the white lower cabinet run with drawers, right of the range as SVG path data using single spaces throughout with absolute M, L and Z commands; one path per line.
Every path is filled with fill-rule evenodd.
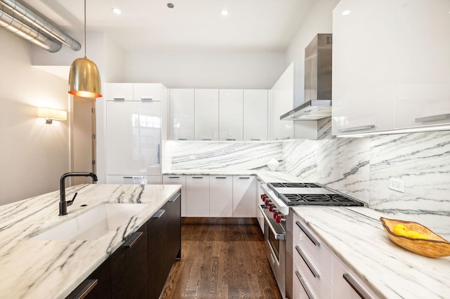
M 298 215 L 293 222 L 293 299 L 378 298 Z

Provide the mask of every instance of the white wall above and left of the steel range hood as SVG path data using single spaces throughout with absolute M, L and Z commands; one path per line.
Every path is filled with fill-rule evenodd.
M 297 74 L 304 78 L 304 48 L 319 33 L 333 32 L 333 9 L 340 0 L 316 0 L 311 6 L 306 17 L 300 24 L 297 34 L 293 37 L 285 51 L 285 68 L 291 62 L 297 61 Z M 300 90 L 304 89 L 304 81 L 299 81 Z M 296 99 L 294 103 L 300 105 L 304 102 L 304 94 Z

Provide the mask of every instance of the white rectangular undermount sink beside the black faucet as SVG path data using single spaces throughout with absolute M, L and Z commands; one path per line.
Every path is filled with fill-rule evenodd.
M 116 230 L 146 206 L 148 204 L 101 204 L 30 239 L 96 240 Z

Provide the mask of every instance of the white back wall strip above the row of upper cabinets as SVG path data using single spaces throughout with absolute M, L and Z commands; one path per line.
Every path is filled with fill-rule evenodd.
M 281 52 L 134 51 L 125 59 L 127 82 L 167 88 L 271 88 L 283 74 Z

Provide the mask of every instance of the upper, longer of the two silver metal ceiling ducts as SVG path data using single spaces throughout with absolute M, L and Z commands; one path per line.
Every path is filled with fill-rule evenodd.
M 27 6 L 27 4 L 17 0 L 0 0 L 0 4 L 3 5 L 4 8 L 10 10 L 13 15 L 20 16 L 20 18 L 23 18 L 23 20 L 30 23 L 30 25 L 37 27 L 39 31 L 57 39 L 72 50 L 79 51 L 79 49 L 82 48 L 82 45 L 79 44 L 78 41 L 68 34 L 65 34 L 65 32 L 56 27 L 56 25 L 53 25 L 50 20 L 40 15 L 37 11 L 34 11 L 34 9 Z

